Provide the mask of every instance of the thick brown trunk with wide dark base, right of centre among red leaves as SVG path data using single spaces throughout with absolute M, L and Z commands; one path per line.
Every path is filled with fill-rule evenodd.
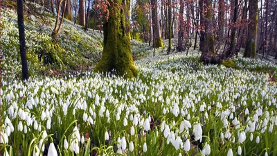
M 215 53 L 215 39 L 213 36 L 213 8 L 211 0 L 204 0 L 204 6 L 206 6 L 205 13 L 205 46 L 202 50 L 200 60 L 204 64 L 220 64 L 221 59 L 219 55 Z

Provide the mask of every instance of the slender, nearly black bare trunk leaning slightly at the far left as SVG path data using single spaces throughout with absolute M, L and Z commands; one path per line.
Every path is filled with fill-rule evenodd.
M 24 32 L 23 0 L 17 0 L 17 23 L 19 31 L 19 49 L 22 64 L 22 80 L 28 80 L 28 65 L 26 58 L 26 43 Z

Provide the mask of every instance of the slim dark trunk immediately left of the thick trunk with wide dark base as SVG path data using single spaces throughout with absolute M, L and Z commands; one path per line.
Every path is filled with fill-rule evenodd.
M 200 26 L 201 26 L 201 31 L 200 31 L 200 42 L 199 42 L 199 49 L 201 52 L 204 52 L 205 49 L 205 33 L 203 31 L 204 28 L 204 7 L 203 7 L 203 0 L 199 0 L 199 12 L 200 12 Z

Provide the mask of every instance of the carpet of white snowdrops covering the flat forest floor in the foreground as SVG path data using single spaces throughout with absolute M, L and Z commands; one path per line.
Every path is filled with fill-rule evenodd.
M 1 153 L 277 155 L 276 83 L 198 59 L 145 58 L 129 80 L 89 72 L 26 83 L 4 78 Z

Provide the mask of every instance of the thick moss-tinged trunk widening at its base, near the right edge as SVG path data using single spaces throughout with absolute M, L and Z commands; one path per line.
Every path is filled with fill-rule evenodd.
M 256 40 L 258 28 L 258 0 L 249 0 L 249 21 L 245 58 L 256 58 Z

